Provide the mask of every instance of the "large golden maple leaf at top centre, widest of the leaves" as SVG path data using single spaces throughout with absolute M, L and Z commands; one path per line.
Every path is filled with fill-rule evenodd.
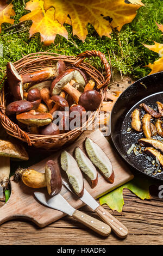
M 140 1 L 137 0 L 137 2 Z M 95 27 L 100 36 L 110 36 L 111 27 L 116 27 L 120 31 L 124 24 L 134 19 L 136 10 L 141 5 L 126 4 L 124 0 L 46 0 L 44 8 L 48 10 L 54 7 L 55 19 L 62 25 L 69 14 L 73 35 L 76 34 L 79 39 L 84 41 L 87 35 L 86 26 L 88 23 Z M 104 17 L 108 19 L 106 20 Z

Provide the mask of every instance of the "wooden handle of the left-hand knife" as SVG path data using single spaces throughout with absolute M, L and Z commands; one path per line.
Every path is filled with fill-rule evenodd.
M 108 236 L 111 232 L 109 225 L 106 225 L 104 222 L 98 221 L 96 218 L 84 214 L 82 211 L 74 211 L 72 217 L 102 236 Z

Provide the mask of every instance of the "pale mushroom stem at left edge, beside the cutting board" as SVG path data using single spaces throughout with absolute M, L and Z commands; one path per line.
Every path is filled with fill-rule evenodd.
M 10 157 L 0 156 L 0 185 L 7 190 L 10 175 Z

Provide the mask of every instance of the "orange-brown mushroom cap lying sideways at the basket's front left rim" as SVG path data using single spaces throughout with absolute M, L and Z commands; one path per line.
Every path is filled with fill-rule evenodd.
M 36 113 L 35 110 L 16 115 L 16 119 L 29 126 L 44 126 L 53 120 L 50 113 Z

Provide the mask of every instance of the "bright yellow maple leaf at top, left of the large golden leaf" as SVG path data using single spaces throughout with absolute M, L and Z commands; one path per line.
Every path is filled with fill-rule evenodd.
M 22 16 L 20 21 L 33 21 L 29 30 L 29 36 L 40 32 L 41 41 L 43 41 L 45 45 L 50 45 L 54 42 L 57 34 L 67 39 L 68 33 L 66 28 L 54 19 L 55 9 L 51 7 L 45 11 L 43 4 L 44 2 L 42 0 L 31 0 L 27 2 L 26 9 L 31 12 Z

